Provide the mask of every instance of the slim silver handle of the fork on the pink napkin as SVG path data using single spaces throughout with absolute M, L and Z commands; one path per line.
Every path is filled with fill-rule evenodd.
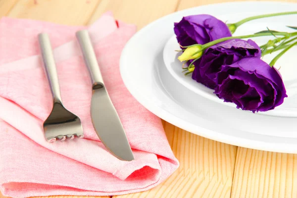
M 41 33 L 38 35 L 38 40 L 53 102 L 62 104 L 58 74 L 49 41 L 49 35 Z

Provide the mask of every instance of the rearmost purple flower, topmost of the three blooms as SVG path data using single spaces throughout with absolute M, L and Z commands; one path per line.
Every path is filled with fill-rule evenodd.
M 183 17 L 180 22 L 174 23 L 174 32 L 181 46 L 203 45 L 210 41 L 232 36 L 224 22 L 208 14 Z

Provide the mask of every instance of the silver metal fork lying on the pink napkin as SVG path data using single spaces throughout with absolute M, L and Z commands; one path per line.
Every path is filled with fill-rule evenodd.
M 48 142 L 54 142 L 56 140 L 73 139 L 75 136 L 83 138 L 83 128 L 79 117 L 68 111 L 62 104 L 49 36 L 46 33 L 39 34 L 38 40 L 53 98 L 52 110 L 43 124 L 46 139 Z

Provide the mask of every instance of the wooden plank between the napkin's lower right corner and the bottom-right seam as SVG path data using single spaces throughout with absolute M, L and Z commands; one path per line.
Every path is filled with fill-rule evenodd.
M 230 198 L 237 147 L 212 141 L 168 122 L 164 129 L 179 169 L 155 188 L 113 198 Z

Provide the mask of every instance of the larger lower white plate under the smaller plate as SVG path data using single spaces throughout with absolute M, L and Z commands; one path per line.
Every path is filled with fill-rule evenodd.
M 249 1 L 211 4 L 167 15 L 127 43 L 120 59 L 122 79 L 148 110 L 189 132 L 241 147 L 297 153 L 297 118 L 253 114 L 201 97 L 173 78 L 162 53 L 173 35 L 173 23 L 186 15 L 207 13 L 237 21 L 264 12 L 293 10 L 294 3 Z

